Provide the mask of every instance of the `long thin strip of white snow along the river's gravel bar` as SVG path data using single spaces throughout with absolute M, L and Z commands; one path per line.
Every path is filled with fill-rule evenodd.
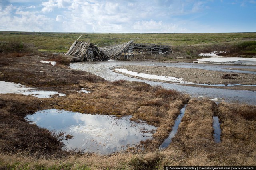
M 120 68 L 116 68 L 115 70 L 118 72 L 122 72 L 124 74 L 129 74 L 131 76 L 136 76 L 136 77 L 141 77 L 141 78 L 164 80 L 164 81 L 168 81 L 168 82 L 177 82 L 177 83 L 182 83 L 182 84 L 194 84 L 192 82 L 183 81 L 182 78 L 168 77 L 168 76 L 157 76 L 157 75 L 146 74 L 146 73 L 138 73 L 138 72 L 128 71 L 127 69 L 120 69 Z

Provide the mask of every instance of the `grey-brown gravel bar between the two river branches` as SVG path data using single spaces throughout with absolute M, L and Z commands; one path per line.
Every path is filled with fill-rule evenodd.
M 197 68 L 177 68 L 177 67 L 155 67 L 155 66 L 122 66 L 120 68 L 127 69 L 133 72 L 147 73 L 158 76 L 171 76 L 176 78 L 182 78 L 186 82 L 193 82 L 196 84 L 242 84 L 242 85 L 255 85 L 255 74 L 243 74 L 237 73 L 234 79 L 224 79 L 222 76 L 230 74 L 227 72 L 202 70 Z M 160 80 L 155 80 L 160 81 Z M 188 85 L 186 86 L 198 86 Z M 207 86 L 209 87 L 209 86 Z M 216 87 L 214 87 L 216 88 Z M 229 88 L 237 90 L 256 90 L 255 86 L 234 86 L 234 87 L 218 87 Z

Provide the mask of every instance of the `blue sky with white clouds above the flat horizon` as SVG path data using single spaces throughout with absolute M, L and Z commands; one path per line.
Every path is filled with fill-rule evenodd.
M 256 0 L 0 0 L 0 31 L 256 32 Z

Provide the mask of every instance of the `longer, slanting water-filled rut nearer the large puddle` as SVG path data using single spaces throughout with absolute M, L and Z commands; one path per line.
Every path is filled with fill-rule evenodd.
M 166 148 L 170 145 L 172 138 L 175 136 L 177 133 L 178 127 L 180 125 L 180 122 L 182 120 L 182 117 L 185 114 L 187 104 L 185 104 L 182 109 L 180 109 L 180 115 L 178 115 L 177 119 L 175 120 L 174 126 L 172 127 L 172 131 L 170 132 L 168 138 L 164 140 L 164 142 L 160 145 L 159 149 Z

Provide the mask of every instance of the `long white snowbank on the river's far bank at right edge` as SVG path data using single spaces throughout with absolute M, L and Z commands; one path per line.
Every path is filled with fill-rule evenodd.
M 198 63 L 256 65 L 256 58 L 211 57 L 198 59 Z

